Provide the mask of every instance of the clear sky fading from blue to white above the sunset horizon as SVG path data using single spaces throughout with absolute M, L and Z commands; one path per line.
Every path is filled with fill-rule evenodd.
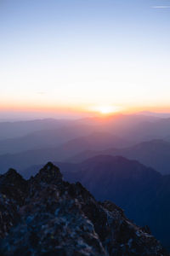
M 0 117 L 170 111 L 169 31 L 170 0 L 0 0 Z

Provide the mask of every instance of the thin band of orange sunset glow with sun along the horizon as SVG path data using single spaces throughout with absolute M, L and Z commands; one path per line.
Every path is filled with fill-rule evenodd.
M 115 115 L 115 114 L 131 114 L 131 113 L 139 113 L 143 111 L 150 111 L 156 113 L 170 113 L 170 106 L 126 106 L 123 108 L 122 106 L 114 106 L 114 105 L 100 105 L 100 106 L 87 106 L 85 104 L 75 105 L 75 106 L 62 106 L 62 105 L 39 105 L 39 104 L 28 104 L 28 103 L 0 103 L 0 112 L 43 112 L 43 113 L 89 113 L 89 115 L 100 115 L 101 117 L 105 117 L 107 115 Z

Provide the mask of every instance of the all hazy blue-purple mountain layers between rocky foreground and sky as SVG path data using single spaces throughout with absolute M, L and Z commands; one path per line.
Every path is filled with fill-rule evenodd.
M 169 118 L 143 114 L 3 122 L 0 173 L 12 167 L 28 179 L 53 161 L 66 180 L 114 201 L 169 249 L 169 128 Z

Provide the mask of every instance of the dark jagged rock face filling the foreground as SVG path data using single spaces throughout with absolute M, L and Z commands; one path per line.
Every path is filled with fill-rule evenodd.
M 111 201 L 63 181 L 52 163 L 30 180 L 0 177 L 0 255 L 164 256 L 161 244 Z

